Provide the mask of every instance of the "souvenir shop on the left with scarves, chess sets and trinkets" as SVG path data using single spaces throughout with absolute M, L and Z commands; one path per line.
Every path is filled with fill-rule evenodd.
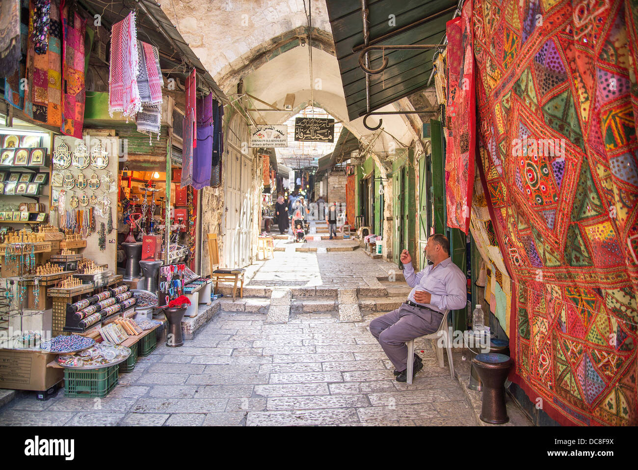
M 221 182 L 228 100 L 133 4 L 3 2 L 0 388 L 105 397 L 211 302 L 198 190 Z

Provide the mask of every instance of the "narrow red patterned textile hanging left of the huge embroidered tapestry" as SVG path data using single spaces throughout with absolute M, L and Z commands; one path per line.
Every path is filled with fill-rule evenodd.
M 447 225 L 468 234 L 474 186 L 476 99 L 474 91 L 472 2 L 466 0 L 461 17 L 447 22 L 447 144 L 445 201 Z

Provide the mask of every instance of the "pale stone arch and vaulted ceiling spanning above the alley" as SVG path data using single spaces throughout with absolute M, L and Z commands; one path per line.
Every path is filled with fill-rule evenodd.
M 160 0 L 161 8 L 200 58 L 219 86 L 232 95 L 237 82 L 247 93 L 283 107 L 287 93 L 295 94 L 292 112 L 253 112 L 257 122 L 283 123 L 311 102 L 308 60 L 308 20 L 303 0 Z M 306 0 L 312 8 L 313 99 L 316 105 L 343 121 L 362 140 L 374 138 L 362 119 L 349 121 L 332 30 L 323 0 Z M 317 82 L 317 79 L 320 81 Z M 419 109 L 436 107 L 432 93 L 419 93 Z M 411 97 L 412 99 L 412 97 Z M 255 103 L 256 107 L 265 105 Z M 412 110 L 407 98 L 382 110 Z M 376 124 L 371 117 L 369 123 Z M 383 132 L 374 151 L 384 154 L 394 140 L 409 146 L 420 137 L 417 116 L 383 116 Z M 376 131 L 378 133 L 379 131 Z M 418 150 L 418 149 L 417 149 Z

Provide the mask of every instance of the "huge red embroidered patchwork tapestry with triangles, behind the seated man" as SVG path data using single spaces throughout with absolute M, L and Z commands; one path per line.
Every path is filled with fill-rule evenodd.
M 473 22 L 512 379 L 561 424 L 638 425 L 638 6 L 474 0 Z

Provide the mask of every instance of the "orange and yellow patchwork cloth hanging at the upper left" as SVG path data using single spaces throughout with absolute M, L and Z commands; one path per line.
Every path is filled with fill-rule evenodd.
M 52 1 L 49 10 L 48 49 L 36 54 L 33 42 L 34 4 L 29 4 L 29 39 L 27 45 L 27 92 L 24 112 L 35 121 L 62 126 L 62 26 L 60 7 Z

